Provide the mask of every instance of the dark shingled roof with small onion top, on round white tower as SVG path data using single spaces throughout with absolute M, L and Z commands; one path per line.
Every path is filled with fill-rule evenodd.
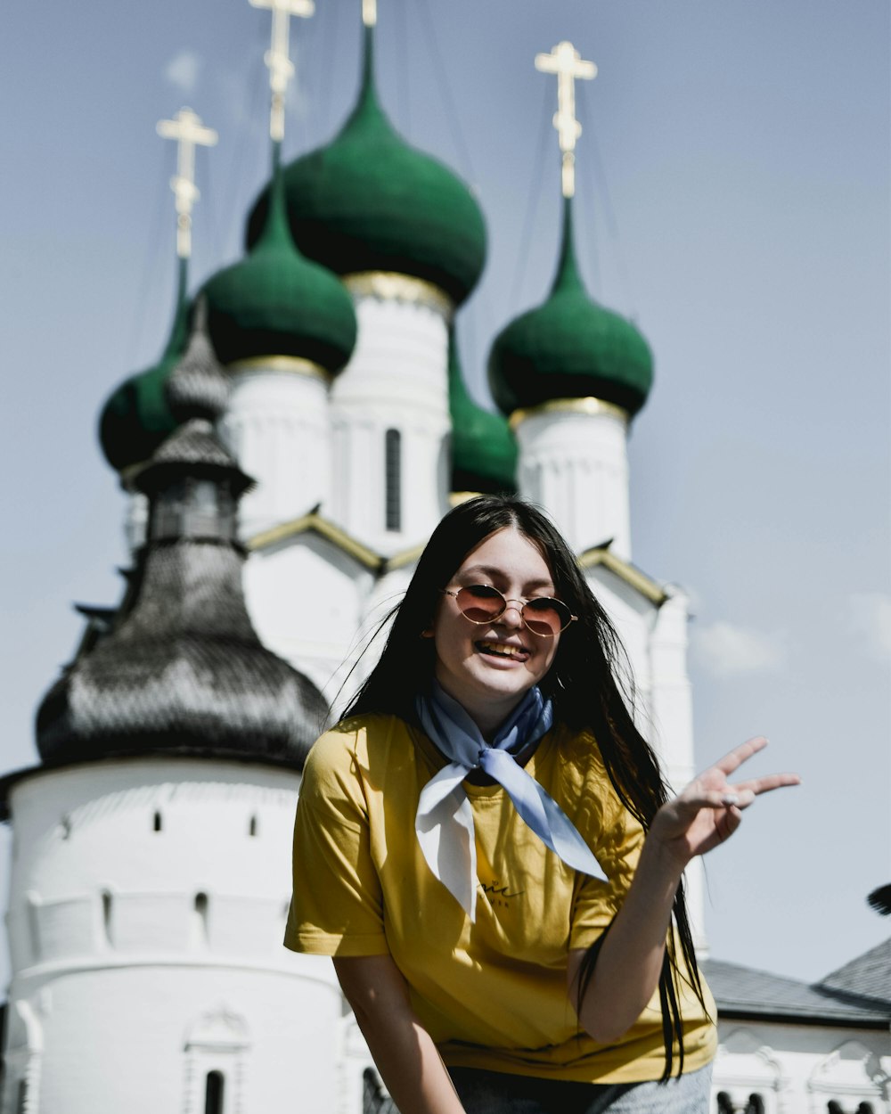
M 235 520 L 249 480 L 213 432 L 225 380 L 203 316 L 170 379 L 184 424 L 136 478 L 149 526 L 127 606 L 43 698 L 45 763 L 183 754 L 301 769 L 326 716 L 315 685 L 260 643 L 247 615 Z

